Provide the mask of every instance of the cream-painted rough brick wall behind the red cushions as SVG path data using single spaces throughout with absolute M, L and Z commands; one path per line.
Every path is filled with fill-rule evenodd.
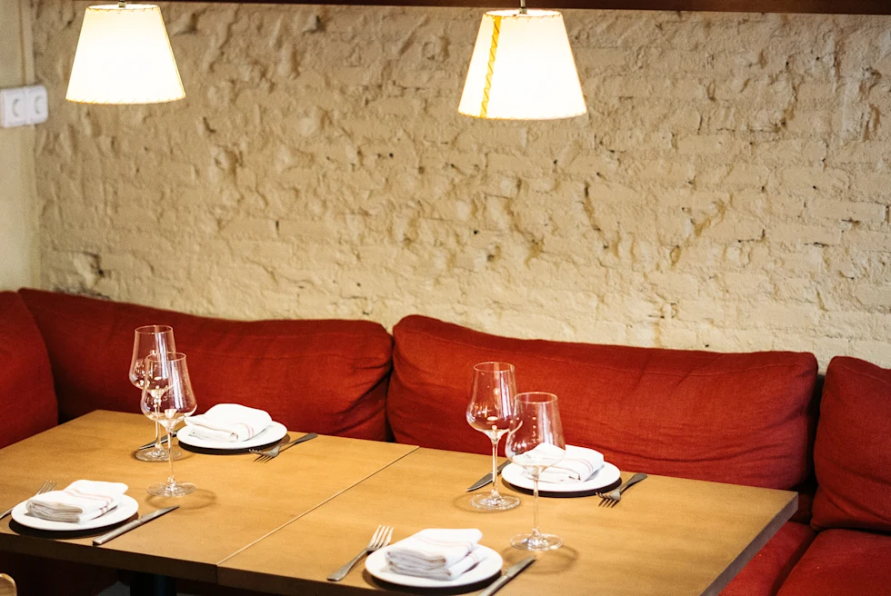
M 42 284 L 236 318 L 891 365 L 891 17 L 566 11 L 589 113 L 456 108 L 480 11 L 162 4 L 187 97 L 66 104 Z

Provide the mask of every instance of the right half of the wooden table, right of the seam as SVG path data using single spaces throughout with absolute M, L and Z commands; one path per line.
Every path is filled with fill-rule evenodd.
M 531 530 L 532 497 L 521 494 L 521 505 L 507 512 L 475 510 L 465 489 L 490 465 L 486 456 L 418 449 L 223 561 L 218 581 L 278 594 L 395 591 L 361 563 L 344 581 L 325 581 L 378 524 L 395 527 L 394 541 L 430 527 L 479 528 L 481 543 L 512 564 L 528 555 L 510 539 Z M 615 508 L 599 502 L 542 499 L 541 529 L 564 546 L 540 555 L 500 593 L 717 594 L 792 516 L 797 495 L 650 476 Z

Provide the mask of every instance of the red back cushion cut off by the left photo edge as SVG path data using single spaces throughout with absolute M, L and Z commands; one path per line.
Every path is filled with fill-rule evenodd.
M 46 346 L 14 292 L 0 292 L 0 447 L 58 422 Z

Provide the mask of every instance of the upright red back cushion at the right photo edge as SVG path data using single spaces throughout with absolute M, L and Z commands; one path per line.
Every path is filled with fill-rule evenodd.
M 814 463 L 815 528 L 891 531 L 891 370 L 832 359 Z

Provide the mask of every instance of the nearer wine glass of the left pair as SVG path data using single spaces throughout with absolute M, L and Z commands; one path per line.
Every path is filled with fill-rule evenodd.
M 164 424 L 167 436 L 174 431 L 176 424 L 195 413 L 195 392 L 189 382 L 184 353 L 162 352 L 145 357 L 145 382 L 140 406 L 146 416 Z M 175 481 L 170 443 L 167 441 L 170 477 L 167 482 L 148 487 L 148 492 L 162 497 L 182 497 L 195 492 L 195 484 Z

